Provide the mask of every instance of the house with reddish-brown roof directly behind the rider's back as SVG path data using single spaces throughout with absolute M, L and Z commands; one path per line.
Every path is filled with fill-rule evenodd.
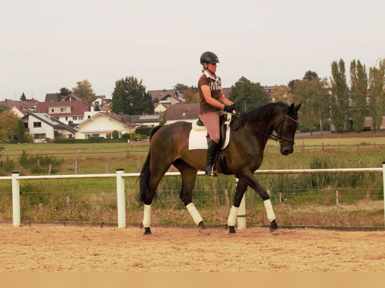
M 192 122 L 199 117 L 199 103 L 169 105 L 166 114 L 166 125 L 177 121 Z

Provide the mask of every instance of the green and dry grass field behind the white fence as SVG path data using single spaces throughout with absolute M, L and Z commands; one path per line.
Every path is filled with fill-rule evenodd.
M 385 161 L 385 135 L 372 132 L 296 137 L 295 152 L 281 156 L 269 140 L 261 170 L 318 168 L 377 168 Z M 137 173 L 148 153 L 148 140 L 130 143 L 54 143 L 5 145 L 0 176 L 12 171 L 21 175 L 47 175 L 49 167 L 38 158 L 57 158 L 51 172 L 64 174 Z M 33 160 L 22 166 L 20 157 Z M 43 161 L 42 161 L 43 162 Z M 75 170 L 75 168 L 77 170 Z M 373 173 L 333 175 L 258 175 L 272 191 L 277 221 L 281 225 L 383 226 L 382 177 Z M 139 223 L 136 179 L 126 179 L 127 221 Z M 159 186 L 160 200 L 153 207 L 153 223 L 193 223 L 179 200 L 179 177 L 165 177 Z M 235 189 L 233 176 L 198 177 L 194 203 L 207 223 L 225 224 Z M 336 191 L 340 207 L 336 207 Z M 279 203 L 279 195 L 282 202 Z M 252 204 L 251 204 L 252 200 Z M 116 180 L 61 179 L 21 182 L 22 220 L 117 222 Z M 261 199 L 246 192 L 248 224 L 266 224 Z M 12 219 L 12 187 L 0 181 L 0 220 Z

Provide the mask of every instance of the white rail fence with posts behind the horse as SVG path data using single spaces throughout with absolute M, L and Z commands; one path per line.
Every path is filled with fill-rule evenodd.
M 382 173 L 384 196 L 384 223 L 385 223 L 385 161 L 382 168 L 352 168 L 352 169 L 296 169 L 296 170 L 257 170 L 254 174 L 326 174 L 326 173 Z M 178 176 L 179 172 L 169 172 L 165 176 Z M 204 176 L 205 172 L 198 172 Z M 83 174 L 83 175 L 42 175 L 20 176 L 19 172 L 12 172 L 12 177 L 0 177 L 0 180 L 12 180 L 12 209 L 13 226 L 20 226 L 20 180 L 34 179 L 74 179 L 74 178 L 116 178 L 118 227 L 126 228 L 126 199 L 124 192 L 125 177 L 139 177 L 140 173 L 124 173 L 124 169 L 117 169 L 116 174 Z M 242 201 L 240 211 L 245 211 L 245 201 Z

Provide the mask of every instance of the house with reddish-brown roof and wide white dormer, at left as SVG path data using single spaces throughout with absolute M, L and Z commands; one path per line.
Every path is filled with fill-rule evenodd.
M 74 99 L 73 97 L 65 99 L 63 99 L 65 101 L 39 102 L 36 105 L 36 112 L 47 113 L 68 125 L 79 124 L 84 120 L 84 112 L 88 111 L 87 104 L 83 100 L 68 100 Z

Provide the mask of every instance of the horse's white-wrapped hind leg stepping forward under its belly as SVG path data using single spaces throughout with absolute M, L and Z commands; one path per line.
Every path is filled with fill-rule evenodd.
M 197 179 L 198 169 L 191 167 L 184 161 L 178 159 L 173 165 L 179 170 L 182 178 L 182 186 L 179 193 L 179 198 L 184 203 L 187 211 L 190 213 L 194 223 L 200 227 L 200 232 L 206 234 L 203 230 L 206 229 L 205 223 L 201 214 L 198 212 L 194 203 L 192 203 L 192 189 L 194 189 Z M 210 233 L 209 233 L 210 234 Z

